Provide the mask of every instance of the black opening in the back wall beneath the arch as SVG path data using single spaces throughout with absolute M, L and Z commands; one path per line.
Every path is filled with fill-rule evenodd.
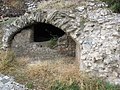
M 59 38 L 65 34 L 61 29 L 46 23 L 34 24 L 34 42 L 49 41 L 52 38 Z

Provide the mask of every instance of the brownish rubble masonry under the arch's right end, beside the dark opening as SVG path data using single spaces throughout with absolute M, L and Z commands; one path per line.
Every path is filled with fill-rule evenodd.
M 60 37 L 54 48 L 57 49 L 60 54 L 75 57 L 76 43 L 70 36 L 63 35 Z

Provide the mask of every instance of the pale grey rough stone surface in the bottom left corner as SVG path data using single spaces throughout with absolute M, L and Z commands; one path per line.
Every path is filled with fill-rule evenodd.
M 27 90 L 27 88 L 16 83 L 13 78 L 0 74 L 0 90 Z

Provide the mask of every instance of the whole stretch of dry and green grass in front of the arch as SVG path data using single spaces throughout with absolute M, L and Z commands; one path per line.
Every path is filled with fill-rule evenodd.
M 14 76 L 30 90 L 120 90 L 120 86 L 80 73 L 70 57 L 29 63 L 29 58 L 15 58 L 13 52 L 0 55 L 0 72 Z

